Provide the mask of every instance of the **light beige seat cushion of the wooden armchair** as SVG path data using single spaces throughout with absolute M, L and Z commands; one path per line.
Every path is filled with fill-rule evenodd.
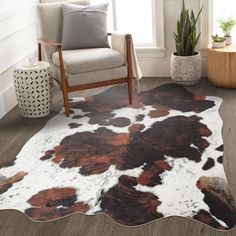
M 65 71 L 71 74 L 104 70 L 125 64 L 124 56 L 110 48 L 90 48 L 78 50 L 63 50 Z M 56 66 L 59 64 L 58 52 L 52 56 Z

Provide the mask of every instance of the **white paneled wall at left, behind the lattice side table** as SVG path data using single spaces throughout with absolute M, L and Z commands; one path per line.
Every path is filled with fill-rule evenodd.
M 37 0 L 0 0 L 0 118 L 16 105 L 12 68 L 36 44 Z

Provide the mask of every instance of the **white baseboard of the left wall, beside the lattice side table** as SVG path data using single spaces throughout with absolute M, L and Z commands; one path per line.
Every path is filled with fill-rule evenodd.
M 13 82 L 0 91 L 0 119 L 17 104 Z

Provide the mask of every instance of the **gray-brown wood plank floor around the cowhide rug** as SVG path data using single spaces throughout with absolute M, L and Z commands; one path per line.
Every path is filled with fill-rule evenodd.
M 148 90 L 160 84 L 170 83 L 168 78 L 144 78 L 142 90 Z M 206 79 L 200 84 L 188 87 L 200 95 L 212 95 L 223 98 L 220 109 L 224 121 L 223 139 L 225 145 L 224 168 L 230 190 L 236 199 L 236 91 L 216 88 Z M 97 93 L 98 89 L 90 93 Z M 41 119 L 26 119 L 19 115 L 15 107 L 0 120 L 0 167 L 15 158 L 25 142 L 38 132 L 46 122 L 62 108 L 61 94 L 56 90 L 54 106 L 50 116 Z M 74 214 L 57 221 L 35 223 L 24 214 L 15 210 L 0 211 L 1 236 L 235 236 L 236 228 L 226 233 L 213 230 L 199 222 L 169 217 L 148 223 L 140 227 L 124 227 L 116 224 L 104 215 L 86 216 Z

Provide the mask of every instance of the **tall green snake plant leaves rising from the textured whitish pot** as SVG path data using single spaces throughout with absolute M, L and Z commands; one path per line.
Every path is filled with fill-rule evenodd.
M 197 35 L 196 24 L 202 12 L 203 6 L 195 17 L 193 10 L 191 13 L 182 2 L 180 19 L 177 21 L 177 32 L 173 33 L 175 39 L 177 56 L 193 56 L 195 55 L 195 47 L 198 43 L 201 33 Z

